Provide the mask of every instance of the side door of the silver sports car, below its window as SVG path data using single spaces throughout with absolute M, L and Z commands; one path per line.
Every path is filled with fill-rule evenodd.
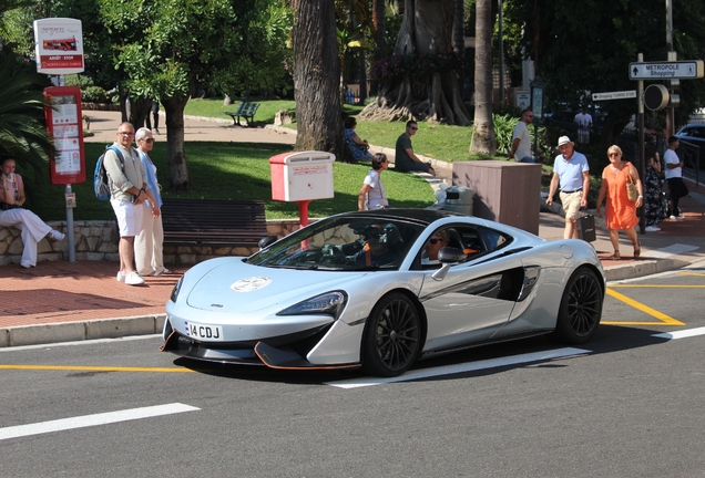
M 423 271 L 419 294 L 428 319 L 425 351 L 487 340 L 509 320 L 523 283 L 523 264 L 509 242 L 452 266 L 442 280 L 433 279 L 437 270 Z

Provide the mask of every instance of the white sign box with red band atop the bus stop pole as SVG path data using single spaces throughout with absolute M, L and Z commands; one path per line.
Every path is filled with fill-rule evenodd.
M 45 74 L 83 72 L 81 20 L 34 20 L 37 71 Z

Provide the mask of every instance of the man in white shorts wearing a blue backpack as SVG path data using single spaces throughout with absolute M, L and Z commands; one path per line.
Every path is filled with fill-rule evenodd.
M 110 204 L 120 228 L 120 271 L 117 281 L 129 285 L 142 285 L 144 279 L 134 269 L 134 238 L 142 225 L 140 205 L 146 199 L 146 174 L 137 152 L 132 147 L 134 126 L 122 123 L 117 141 L 105 152 L 103 164 L 110 179 Z M 137 207 L 140 206 L 140 207 Z

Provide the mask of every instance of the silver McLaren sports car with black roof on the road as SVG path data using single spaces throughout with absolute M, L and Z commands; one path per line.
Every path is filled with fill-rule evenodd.
M 166 304 L 162 350 L 395 376 L 493 342 L 583 343 L 602 315 L 604 272 L 581 240 L 425 209 L 341 214 L 275 239 L 190 269 Z

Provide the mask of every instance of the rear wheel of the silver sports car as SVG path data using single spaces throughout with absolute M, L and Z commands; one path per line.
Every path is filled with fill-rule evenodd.
M 563 291 L 552 337 L 569 344 L 588 342 L 600 325 L 602 300 L 597 276 L 588 268 L 578 269 Z

